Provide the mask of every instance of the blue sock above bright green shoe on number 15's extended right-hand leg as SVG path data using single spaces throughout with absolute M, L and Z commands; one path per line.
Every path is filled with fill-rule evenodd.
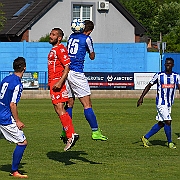
M 92 131 L 97 131 L 98 124 L 97 124 L 96 116 L 95 116 L 92 108 L 84 109 L 84 115 L 85 115 L 85 118 L 88 121 Z

